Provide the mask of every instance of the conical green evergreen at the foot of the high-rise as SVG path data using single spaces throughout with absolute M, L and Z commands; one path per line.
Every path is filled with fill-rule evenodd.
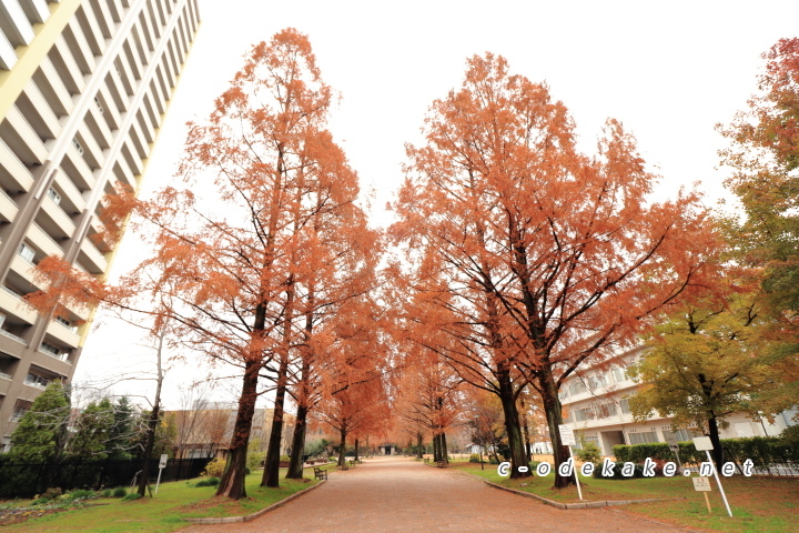
M 53 381 L 11 434 L 9 457 L 20 462 L 58 461 L 63 452 L 69 416 L 69 393 L 60 381 Z

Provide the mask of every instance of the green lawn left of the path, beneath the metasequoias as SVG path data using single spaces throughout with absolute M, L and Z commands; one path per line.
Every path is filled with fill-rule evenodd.
M 213 486 L 192 486 L 198 480 L 162 483 L 155 497 L 143 497 L 123 502 L 119 499 L 92 500 L 100 504 L 87 509 L 64 511 L 41 519 L 29 520 L 21 524 L 3 526 L 9 533 L 165 533 L 179 530 L 188 524 L 185 517 L 239 516 L 250 514 L 283 500 L 291 494 L 316 484 L 313 470 L 306 469 L 305 476 L 311 480 L 284 480 L 281 471 L 281 486 L 265 489 L 259 486 L 262 472 L 247 476 L 247 497 L 233 502 L 215 497 Z

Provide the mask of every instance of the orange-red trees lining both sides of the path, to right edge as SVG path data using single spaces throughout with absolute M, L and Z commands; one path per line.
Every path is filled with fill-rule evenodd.
M 496 396 L 512 475 L 528 475 L 518 470 L 529 456 L 525 398 L 540 400 L 555 461 L 565 461 L 565 380 L 584 365 L 608 365 L 645 332 L 655 344 L 671 339 L 686 316 L 692 334 L 720 312 L 742 313 L 741 328 L 734 319 L 717 326 L 745 346 L 729 350 L 768 354 L 781 382 L 796 380 L 786 340 L 797 330 L 799 52 L 796 40 L 778 47 L 754 119 L 728 130 L 740 148 L 727 162 L 749 213 L 744 227 L 727 221 L 734 230 L 725 233 L 696 191 L 655 201 L 658 177 L 618 121 L 607 121 L 596 153 L 583 152 L 548 88 L 486 53 L 468 60 L 459 89 L 433 103 L 423 144 L 407 148 L 406 180 L 391 205 L 396 222 L 384 234 L 367 224 L 357 175 L 326 129 L 333 92 L 310 43 L 284 30 L 255 46 L 209 119 L 190 124 L 180 185 L 152 200 L 123 190 L 108 199 L 108 233 L 134 213 L 153 255 L 115 286 L 43 261 L 50 290 L 32 301 L 148 308 L 153 334 L 240 369 L 218 494 L 245 495 L 263 394 L 274 406 L 266 486 L 279 483 L 289 403 L 296 409 L 289 476 L 299 477 L 311 418 L 338 433 L 341 461 L 347 438 L 357 445 L 384 434 L 390 412 L 415 428 L 417 441 L 429 432 L 446 460 L 446 429 L 469 388 Z M 769 298 L 759 296 L 761 284 Z M 742 333 L 761 323 L 768 334 Z M 691 361 L 729 351 L 692 342 L 676 351 Z M 671 385 L 659 390 L 676 395 Z M 796 398 L 780 391 L 769 412 Z M 568 482 L 556 477 L 556 486 Z

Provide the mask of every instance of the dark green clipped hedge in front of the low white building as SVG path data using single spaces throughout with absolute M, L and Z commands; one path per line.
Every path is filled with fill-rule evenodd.
M 680 442 L 679 459 L 684 463 L 695 464 L 707 461 L 705 452 L 697 452 L 692 442 Z M 751 436 L 746 439 L 722 439 L 725 459 L 732 457 L 742 463 L 751 459 L 755 467 L 765 469 L 776 464 L 799 463 L 799 445 L 776 436 Z M 635 445 L 616 445 L 613 447 L 617 461 L 643 463 L 646 457 L 660 461 L 672 461 L 674 453 L 663 442 Z

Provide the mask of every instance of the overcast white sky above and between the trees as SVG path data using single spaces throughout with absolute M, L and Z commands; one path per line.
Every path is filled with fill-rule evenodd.
M 249 48 L 293 27 L 310 37 L 323 79 L 342 102 L 331 129 L 375 204 L 401 180 L 404 143 L 419 142 L 432 101 L 459 87 L 466 58 L 505 56 L 515 73 L 546 81 L 570 110 L 586 151 L 606 118 L 620 120 L 664 177 L 659 194 L 700 182 L 708 204 L 726 193 L 717 170 L 729 122 L 756 90 L 760 54 L 796 37 L 799 1 L 283 1 L 200 0 L 202 24 L 144 180 L 162 187 L 174 172 L 184 123 L 204 118 Z M 145 191 L 146 193 L 146 191 Z M 375 219 L 376 223 L 384 217 Z M 128 235 L 113 274 L 136 260 Z M 141 257 L 139 257 L 141 259 Z M 152 351 L 101 320 L 78 365 L 77 383 L 146 366 Z M 190 366 L 196 366 L 192 364 Z M 174 390 L 191 375 L 168 375 Z M 118 393 L 136 393 L 135 383 Z M 168 392 L 166 408 L 176 394 Z

